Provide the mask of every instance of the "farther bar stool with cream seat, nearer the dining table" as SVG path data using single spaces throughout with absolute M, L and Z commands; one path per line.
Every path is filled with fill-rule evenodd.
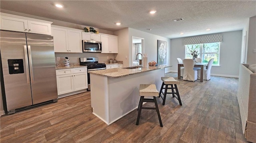
M 180 84 L 180 81 L 175 80 L 173 77 L 161 77 L 161 80 L 163 81 L 163 83 L 159 92 L 159 97 L 163 99 L 163 105 L 165 104 L 166 94 L 172 94 L 172 97 L 175 97 L 176 99 L 178 99 L 180 105 L 182 106 L 182 103 L 180 100 L 180 94 L 177 88 L 177 84 Z M 162 91 L 163 89 L 164 89 L 164 92 Z M 172 89 L 172 92 L 167 92 L 168 89 Z M 175 92 L 174 92 L 174 89 L 175 89 Z M 162 94 L 164 94 L 164 98 L 162 97 Z

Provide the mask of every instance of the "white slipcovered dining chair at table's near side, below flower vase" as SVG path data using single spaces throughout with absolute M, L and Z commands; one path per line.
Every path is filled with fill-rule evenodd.
M 184 74 L 183 80 L 195 81 L 197 80 L 197 70 L 193 69 L 195 61 L 193 59 L 184 59 Z

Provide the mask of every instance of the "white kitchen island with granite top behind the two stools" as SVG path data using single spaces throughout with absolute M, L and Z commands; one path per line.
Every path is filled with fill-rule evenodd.
M 140 84 L 156 84 L 160 90 L 167 67 L 90 71 L 93 114 L 109 125 L 132 112 L 138 107 Z

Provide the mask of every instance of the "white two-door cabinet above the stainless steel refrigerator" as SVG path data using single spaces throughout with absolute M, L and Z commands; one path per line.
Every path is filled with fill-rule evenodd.
M 12 14 L 0 13 L 0 15 L 0 29 L 2 30 L 51 35 L 52 22 L 15 16 Z

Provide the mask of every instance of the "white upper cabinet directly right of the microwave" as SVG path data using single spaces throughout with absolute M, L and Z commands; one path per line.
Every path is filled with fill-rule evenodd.
M 101 53 L 118 53 L 118 37 L 114 35 L 100 35 L 102 42 Z

